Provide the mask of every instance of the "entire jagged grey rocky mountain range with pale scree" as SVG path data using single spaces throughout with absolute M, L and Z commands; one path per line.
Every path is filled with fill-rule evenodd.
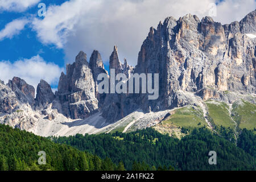
M 209 16 L 168 17 L 150 28 L 135 68 L 126 59 L 121 63 L 114 46 L 109 66 L 115 73 L 159 73 L 157 100 L 148 100 L 148 94 L 98 93 L 97 77 L 108 71 L 100 52 L 94 50 L 88 62 L 81 51 L 73 64 L 67 64 L 66 74 L 61 73 L 55 93 L 44 80 L 36 97 L 33 86 L 21 78 L 0 81 L 0 122 L 39 135 L 68 135 L 95 133 L 137 111 L 202 106 L 205 100 L 230 104 L 243 98 L 255 104 L 255 17 L 256 10 L 225 25 Z

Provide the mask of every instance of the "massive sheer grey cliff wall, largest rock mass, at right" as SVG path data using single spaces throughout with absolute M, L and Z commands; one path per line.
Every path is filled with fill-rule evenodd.
M 182 106 L 178 102 L 183 96 L 175 99 L 178 90 L 197 92 L 202 98 L 211 98 L 208 90 L 218 95 L 225 90 L 255 93 L 255 39 L 244 35 L 255 34 L 255 11 L 247 16 L 242 23 L 222 26 L 210 17 L 200 21 L 188 14 L 179 20 L 167 18 L 157 30 L 150 28 L 135 72 L 159 73 L 159 99 L 149 102 L 141 96 L 141 104 L 153 109 Z M 247 27 L 242 32 L 241 24 Z

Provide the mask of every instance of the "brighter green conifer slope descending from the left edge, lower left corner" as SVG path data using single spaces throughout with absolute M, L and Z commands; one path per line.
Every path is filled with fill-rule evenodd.
M 46 165 L 39 165 L 39 151 L 46 152 Z M 0 125 L 0 170 L 114 170 L 109 158 L 79 151 L 66 144 L 27 131 Z M 120 164 L 121 165 L 121 164 Z M 123 169 L 122 165 L 118 166 Z

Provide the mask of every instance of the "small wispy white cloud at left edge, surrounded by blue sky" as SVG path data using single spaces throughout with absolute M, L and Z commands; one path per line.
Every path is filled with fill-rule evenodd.
M 27 23 L 27 19 L 15 19 L 12 22 L 7 23 L 5 28 L 0 31 L 0 40 L 3 40 L 5 38 L 11 39 L 14 35 L 18 35 Z

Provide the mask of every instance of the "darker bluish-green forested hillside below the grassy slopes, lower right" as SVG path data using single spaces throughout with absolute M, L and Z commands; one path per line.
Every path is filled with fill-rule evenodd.
M 249 134 L 254 137 L 254 144 L 251 137 L 246 137 Z M 238 147 L 205 128 L 195 129 L 181 140 L 150 128 L 132 133 L 77 134 L 52 139 L 101 158 L 109 157 L 115 164 L 123 161 L 127 169 L 138 169 L 137 163 L 146 163 L 153 168 L 173 166 L 177 170 L 256 169 L 255 135 L 246 129 L 241 133 Z M 217 152 L 217 165 L 209 165 L 209 151 Z

